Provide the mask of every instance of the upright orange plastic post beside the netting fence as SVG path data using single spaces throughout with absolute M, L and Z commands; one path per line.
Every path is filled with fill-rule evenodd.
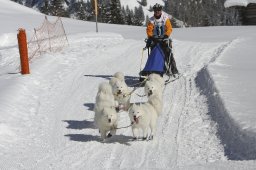
M 28 61 L 28 47 L 26 32 L 23 28 L 20 28 L 17 35 L 19 51 L 20 51 L 20 64 L 21 74 L 29 74 L 29 61 Z

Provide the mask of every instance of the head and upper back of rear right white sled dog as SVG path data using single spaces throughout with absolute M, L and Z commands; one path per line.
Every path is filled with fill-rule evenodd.
M 163 90 L 160 84 L 156 81 L 146 81 L 144 91 L 148 97 L 151 95 L 157 95 L 160 99 L 162 99 Z

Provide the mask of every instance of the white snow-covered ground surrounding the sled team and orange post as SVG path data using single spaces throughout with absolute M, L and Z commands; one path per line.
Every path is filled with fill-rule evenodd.
M 17 29 L 31 36 L 44 15 L 0 4 L 0 169 L 256 168 L 255 26 L 174 29 L 182 76 L 165 87 L 156 138 L 132 141 L 124 128 L 103 143 L 93 125 L 98 84 L 116 71 L 138 82 L 145 28 L 99 24 L 95 33 L 93 22 L 63 18 L 69 47 L 21 75 Z M 132 102 L 146 100 L 136 94 L 143 89 Z M 118 122 L 129 125 L 128 114 Z

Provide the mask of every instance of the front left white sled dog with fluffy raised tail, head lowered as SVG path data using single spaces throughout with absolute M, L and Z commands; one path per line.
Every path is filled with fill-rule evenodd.
M 101 83 L 98 87 L 94 105 L 94 122 L 103 140 L 106 138 L 108 131 L 111 131 L 111 135 L 115 134 L 114 127 L 117 127 L 117 112 L 115 109 L 117 105 L 109 83 Z

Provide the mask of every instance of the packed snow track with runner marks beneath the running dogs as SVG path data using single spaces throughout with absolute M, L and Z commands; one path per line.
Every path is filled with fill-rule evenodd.
M 195 82 L 197 73 L 218 57 L 226 43 L 174 41 L 183 75 L 165 88 L 156 138 L 132 141 L 131 129 L 125 128 L 102 143 L 93 125 L 97 86 L 116 71 L 124 72 L 129 85 L 137 83 L 144 43 L 116 34 L 77 34 L 69 41 L 63 52 L 34 60 L 33 74 L 24 78 L 33 84 L 22 81 L 28 89 L 23 100 L 34 100 L 21 110 L 30 114 L 18 120 L 23 122 L 21 130 L 15 129 L 20 141 L 8 146 L 12 150 L 3 148 L 3 168 L 167 169 L 226 160 L 216 123 L 207 114 L 206 97 Z M 35 91 L 40 95 L 33 95 Z M 133 102 L 145 100 L 132 96 Z M 121 112 L 119 127 L 129 123 L 128 114 Z

